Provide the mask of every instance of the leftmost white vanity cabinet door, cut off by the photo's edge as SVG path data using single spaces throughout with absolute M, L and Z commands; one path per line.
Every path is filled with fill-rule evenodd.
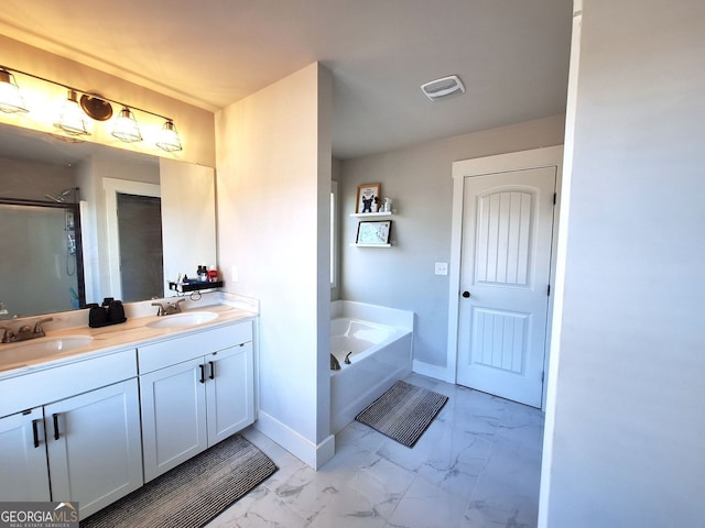
M 0 419 L 0 502 L 51 501 L 42 408 Z

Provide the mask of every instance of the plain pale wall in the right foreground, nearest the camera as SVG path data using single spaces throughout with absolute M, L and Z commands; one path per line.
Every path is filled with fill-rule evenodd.
M 703 20 L 584 1 L 541 526 L 703 526 Z

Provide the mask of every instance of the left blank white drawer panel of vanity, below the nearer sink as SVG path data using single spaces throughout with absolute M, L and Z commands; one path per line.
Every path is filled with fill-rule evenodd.
M 0 416 L 19 413 L 137 376 L 134 349 L 0 382 Z

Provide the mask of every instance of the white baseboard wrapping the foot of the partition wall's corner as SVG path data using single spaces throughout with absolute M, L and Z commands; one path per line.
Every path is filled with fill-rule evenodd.
M 316 446 L 262 410 L 253 427 L 314 470 L 322 468 L 335 454 L 335 436 L 329 435 Z

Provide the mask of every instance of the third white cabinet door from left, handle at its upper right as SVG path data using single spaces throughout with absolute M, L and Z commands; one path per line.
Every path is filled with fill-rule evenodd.
M 203 358 L 140 376 L 144 482 L 208 447 Z

